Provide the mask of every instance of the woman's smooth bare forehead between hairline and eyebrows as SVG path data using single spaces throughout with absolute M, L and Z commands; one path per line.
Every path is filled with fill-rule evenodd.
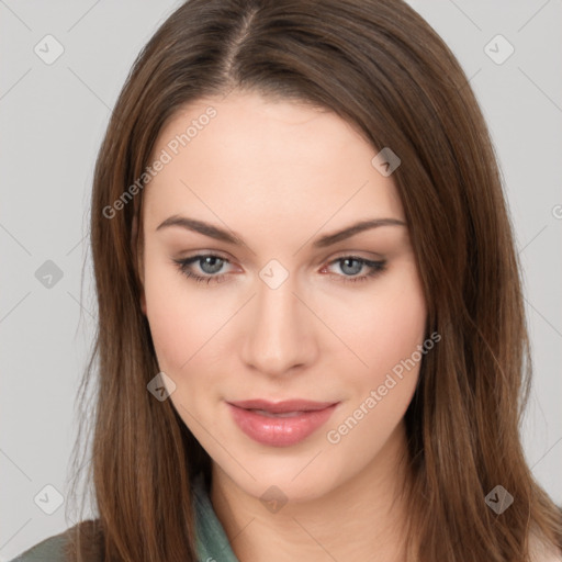
M 327 110 L 254 93 L 199 100 L 168 121 L 150 161 L 165 153 L 145 188 L 148 221 L 214 214 L 244 231 L 254 217 L 292 227 L 404 220 L 392 178 L 371 164 L 376 150 Z

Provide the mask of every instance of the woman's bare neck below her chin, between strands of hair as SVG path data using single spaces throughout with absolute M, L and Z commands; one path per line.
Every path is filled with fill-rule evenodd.
M 407 506 L 401 492 L 409 472 L 401 424 L 368 465 L 337 488 L 307 502 L 263 509 L 213 463 L 211 501 L 240 562 L 405 560 Z

